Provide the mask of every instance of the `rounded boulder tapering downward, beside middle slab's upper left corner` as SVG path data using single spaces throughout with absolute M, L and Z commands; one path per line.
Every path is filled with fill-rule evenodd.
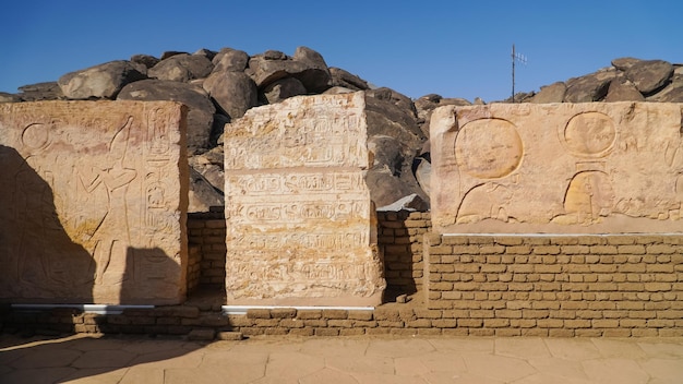
M 259 91 L 242 72 L 214 72 L 204 82 L 204 89 L 231 119 L 241 118 L 259 103 Z

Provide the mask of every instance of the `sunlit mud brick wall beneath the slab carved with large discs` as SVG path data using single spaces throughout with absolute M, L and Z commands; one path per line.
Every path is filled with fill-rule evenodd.
M 468 334 L 683 334 L 683 236 L 427 241 L 428 309 Z

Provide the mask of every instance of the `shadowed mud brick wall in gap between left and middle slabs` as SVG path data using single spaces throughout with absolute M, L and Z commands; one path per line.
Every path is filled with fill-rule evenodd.
M 197 284 L 225 286 L 226 223 L 223 207 L 189 214 L 188 237 L 190 249 L 199 250 L 200 254 Z

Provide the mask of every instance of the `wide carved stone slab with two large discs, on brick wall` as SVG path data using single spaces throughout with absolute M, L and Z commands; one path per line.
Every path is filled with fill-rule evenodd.
M 447 232 L 681 232 L 681 104 L 492 104 L 431 119 Z

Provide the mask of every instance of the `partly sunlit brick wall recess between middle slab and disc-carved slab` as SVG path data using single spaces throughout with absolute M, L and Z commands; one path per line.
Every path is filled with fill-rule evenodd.
M 386 297 L 422 289 L 422 238 L 431 228 L 429 213 L 378 212 L 378 243 L 384 252 Z

